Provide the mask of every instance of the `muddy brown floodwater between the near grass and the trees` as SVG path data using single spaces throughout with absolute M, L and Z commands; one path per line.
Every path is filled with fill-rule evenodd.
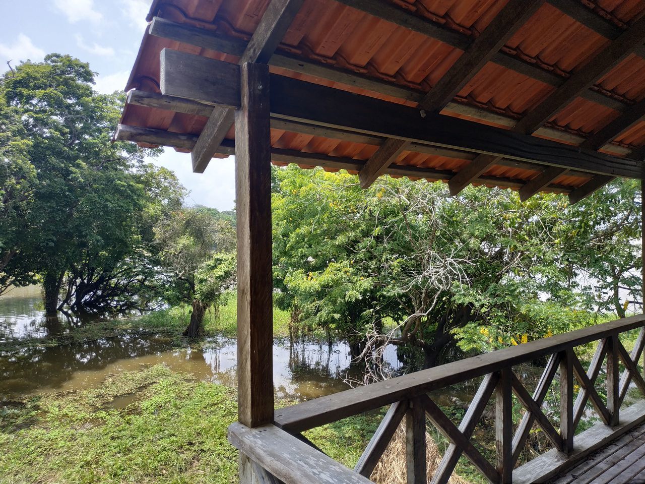
M 394 348 L 386 363 L 400 368 Z M 101 385 L 108 376 L 164 363 L 175 372 L 201 381 L 235 387 L 237 345 L 234 339 L 210 339 L 204 348 L 171 349 L 168 339 L 136 334 L 58 347 L 26 347 L 0 354 L 0 399 L 16 399 L 51 391 Z M 349 388 L 346 380 L 360 379 L 346 343 L 303 341 L 273 345 L 273 383 L 279 398 L 298 401 Z

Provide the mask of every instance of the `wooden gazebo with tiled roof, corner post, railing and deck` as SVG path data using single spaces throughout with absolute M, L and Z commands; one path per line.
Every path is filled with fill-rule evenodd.
M 191 152 L 195 172 L 235 154 L 239 423 L 229 439 L 241 452 L 241 481 L 368 483 L 402 420 L 410 484 L 446 483 L 462 454 L 491 483 L 645 476 L 637 459 L 645 437 L 635 431 L 645 403 L 620 411 L 632 382 L 645 392 L 637 365 L 644 316 L 275 411 L 270 207 L 272 162 L 345 169 L 362 187 L 388 174 L 446 181 L 455 195 L 475 184 L 516 189 L 522 199 L 568 194 L 571 203 L 615 177 L 643 179 L 644 13 L 642 0 L 154 1 L 116 136 Z M 619 334 L 637 328 L 629 353 Z M 573 348 L 593 341 L 585 370 Z M 543 357 L 550 359 L 531 395 L 513 367 Z M 595 388 L 603 365 L 606 399 Z M 557 374 L 559 429 L 541 409 Z M 457 426 L 427 393 L 475 378 L 481 386 Z M 526 408 L 517 428 L 513 394 Z M 493 463 L 471 443 L 491 398 Z M 574 438 L 588 401 L 602 423 Z M 301 434 L 385 405 L 354 470 Z M 450 441 L 433 476 L 426 418 Z M 553 449 L 517 467 L 534 423 Z M 586 459 L 610 442 L 622 450 Z M 566 474 L 583 460 L 584 469 Z

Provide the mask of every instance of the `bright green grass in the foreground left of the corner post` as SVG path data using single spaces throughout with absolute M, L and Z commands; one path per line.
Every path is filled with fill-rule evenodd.
M 125 408 L 110 402 L 132 394 Z M 0 483 L 233 483 L 235 390 L 163 365 L 0 407 Z

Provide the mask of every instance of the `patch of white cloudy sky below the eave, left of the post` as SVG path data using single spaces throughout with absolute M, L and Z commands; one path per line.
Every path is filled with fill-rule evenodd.
M 235 157 L 213 158 L 204 173 L 193 173 L 190 154 L 172 148 L 165 148 L 161 156 L 150 161 L 175 172 L 190 190 L 187 205 L 206 205 L 217 210 L 230 210 L 235 205 Z

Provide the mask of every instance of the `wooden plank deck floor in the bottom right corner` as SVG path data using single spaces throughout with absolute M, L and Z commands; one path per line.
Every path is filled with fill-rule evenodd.
M 645 484 L 645 425 L 591 454 L 551 484 Z

